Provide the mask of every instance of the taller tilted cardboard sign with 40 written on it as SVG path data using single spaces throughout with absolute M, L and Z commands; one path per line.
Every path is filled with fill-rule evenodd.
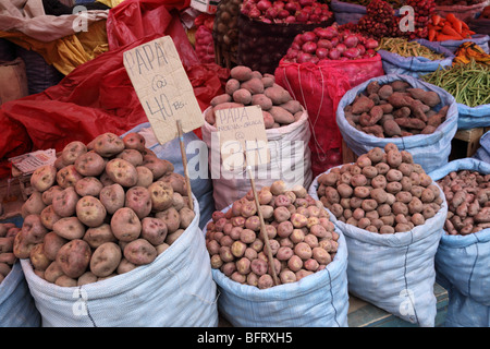
M 170 36 L 163 36 L 124 52 L 130 75 L 143 109 L 160 144 L 204 124 L 193 86 Z

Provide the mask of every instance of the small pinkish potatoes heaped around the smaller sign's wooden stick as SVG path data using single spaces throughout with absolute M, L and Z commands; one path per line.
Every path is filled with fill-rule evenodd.
M 339 248 L 339 233 L 323 204 L 302 185 L 286 189 L 281 180 L 258 192 L 279 285 L 323 269 Z M 252 190 L 229 210 L 217 210 L 206 230 L 211 267 L 232 280 L 267 289 L 274 286 L 269 251 Z

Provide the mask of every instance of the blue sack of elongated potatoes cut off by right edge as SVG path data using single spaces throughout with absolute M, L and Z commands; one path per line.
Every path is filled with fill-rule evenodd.
M 438 181 L 452 171 L 490 173 L 490 164 L 465 158 L 453 160 L 429 173 Z M 436 254 L 438 282 L 448 289 L 450 303 L 446 326 L 488 327 L 490 325 L 490 229 L 466 236 L 443 232 Z M 475 306 L 479 304 L 478 306 Z

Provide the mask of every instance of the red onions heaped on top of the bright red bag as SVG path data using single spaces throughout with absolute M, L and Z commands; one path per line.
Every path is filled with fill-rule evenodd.
M 295 36 L 284 56 L 286 62 L 314 64 L 321 60 L 352 60 L 376 56 L 378 41 L 336 25 L 316 27 Z

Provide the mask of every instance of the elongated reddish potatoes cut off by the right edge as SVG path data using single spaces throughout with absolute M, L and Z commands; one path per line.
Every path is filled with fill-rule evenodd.
M 439 185 L 448 200 L 444 229 L 449 234 L 468 234 L 490 228 L 490 174 L 474 170 L 451 171 Z

